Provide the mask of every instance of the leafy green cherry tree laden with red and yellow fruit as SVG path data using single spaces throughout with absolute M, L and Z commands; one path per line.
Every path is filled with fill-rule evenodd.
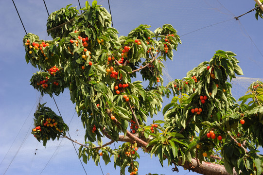
M 32 129 L 38 141 L 44 146 L 59 138 L 78 143 L 85 163 L 92 159 L 97 165 L 103 159 L 107 164 L 113 156 L 123 175 L 140 172 L 138 149 L 158 157 L 161 166 L 167 160 L 173 171 L 183 166 L 204 175 L 263 174 L 258 154 L 263 83 L 250 85 L 237 103 L 229 81 L 243 72 L 235 53 L 216 51 L 210 61 L 164 86 L 163 62 L 172 60 L 181 44 L 172 25 L 154 32 L 140 25 L 119 37 L 110 14 L 96 0 L 81 10 L 68 5 L 49 16 L 47 32 L 53 40 L 30 33 L 23 39 L 27 63 L 39 68 L 31 85 L 50 96 L 69 89 L 86 131 L 83 143 L 70 139 L 62 117 L 39 104 Z M 163 97 L 171 103 L 162 108 Z M 147 123 L 161 109 L 163 120 Z M 113 149 L 115 141 L 123 144 Z

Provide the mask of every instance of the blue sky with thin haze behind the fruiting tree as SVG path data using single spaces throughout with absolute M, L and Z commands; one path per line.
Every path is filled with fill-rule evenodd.
M 39 35 L 42 39 L 50 39 L 46 33 L 48 15 L 44 2 L 42 0 L 14 1 L 26 31 Z M 49 13 L 70 3 L 79 8 L 78 0 L 45 0 L 45 2 Z M 85 0 L 80 0 L 80 2 L 84 6 Z M 98 2 L 108 10 L 107 0 L 98 0 Z M 140 24 L 151 25 L 150 29 L 154 31 L 163 24 L 170 23 L 178 31 L 177 34 L 181 36 L 182 44 L 178 46 L 178 51 L 174 52 L 174 60 L 166 63 L 167 73 L 164 74 L 166 83 L 175 78 L 183 78 L 188 70 L 193 69 L 200 62 L 209 61 L 217 50 L 236 53 L 244 77 L 250 78 L 247 80 L 263 78 L 263 51 L 260 50 L 260 53 L 255 47 L 256 45 L 262 49 L 263 19 L 260 18 L 257 21 L 254 17 L 255 12 L 239 20 L 234 19 L 235 16 L 254 8 L 254 0 L 244 0 L 242 3 L 240 0 L 110 0 L 110 5 L 113 24 L 120 35 L 127 35 Z M 61 143 L 60 140 L 50 141 L 45 148 L 30 134 L 39 92 L 29 85 L 29 80 L 32 73 L 37 70 L 30 64 L 26 64 L 22 44 L 25 31 L 12 0 L 0 0 L 0 14 L 0 51 L 2 53 L 0 57 L 0 119 L 2 121 L 0 161 L 3 160 L 0 165 L 0 174 L 6 172 L 5 175 L 15 173 L 19 175 L 77 173 L 84 175 L 84 170 L 69 140 L 64 139 Z M 228 21 L 222 22 L 225 20 Z M 218 22 L 222 23 L 193 32 Z M 190 32 L 193 33 L 188 34 Z M 244 82 L 237 81 L 234 86 L 236 98 L 245 93 L 244 88 L 249 84 L 248 81 Z M 66 91 L 61 97 L 55 97 L 55 99 L 64 121 L 66 123 L 71 121 L 71 137 L 83 142 L 83 127 L 80 118 L 74 114 L 74 106 L 69 100 L 69 93 Z M 44 102 L 57 111 L 49 96 L 42 98 L 41 103 Z M 169 100 L 165 99 L 164 102 L 168 103 Z M 161 114 L 156 117 L 156 119 L 161 118 Z M 78 145 L 76 147 L 78 148 Z M 143 152 L 140 152 L 140 157 L 140 175 L 147 173 L 175 174 L 171 171 L 171 166 L 162 168 L 158 159 L 154 157 L 150 159 L 149 155 Z M 84 166 L 88 175 L 102 174 L 100 167 L 96 167 L 92 161 Z M 119 169 L 115 170 L 113 163 L 105 166 L 104 162 L 101 162 L 101 166 L 104 175 L 119 174 Z M 179 170 L 181 175 L 188 172 L 182 168 Z M 195 173 L 188 173 L 188 175 L 193 174 Z

